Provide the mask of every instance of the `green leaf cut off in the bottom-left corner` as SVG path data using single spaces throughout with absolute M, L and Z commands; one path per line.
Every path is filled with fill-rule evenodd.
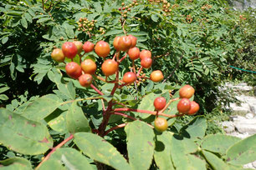
M 1 167 L 3 165 L 3 167 Z M 25 158 L 8 158 L 0 161 L 1 170 L 32 170 L 31 164 Z

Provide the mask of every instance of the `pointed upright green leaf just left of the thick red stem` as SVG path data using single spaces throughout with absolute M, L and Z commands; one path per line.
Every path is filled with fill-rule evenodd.
M 90 132 L 90 125 L 81 107 L 73 102 L 66 116 L 69 133 Z

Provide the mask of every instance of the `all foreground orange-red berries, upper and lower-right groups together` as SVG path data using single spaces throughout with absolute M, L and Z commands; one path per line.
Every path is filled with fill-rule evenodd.
M 128 86 L 132 83 L 140 83 L 145 81 L 146 79 L 150 79 L 152 82 L 160 82 L 164 77 L 160 70 L 155 70 L 151 72 L 150 77 L 146 77 L 146 74 L 142 72 L 143 68 L 149 68 L 152 65 L 152 58 L 151 58 L 151 51 L 149 50 L 142 50 L 136 47 L 136 40 L 137 38 L 128 35 L 128 36 L 121 36 L 115 37 L 113 46 L 115 47 L 115 55 L 112 58 L 106 58 L 110 54 L 110 44 L 105 41 L 97 42 L 96 44 L 92 42 L 82 42 L 74 41 L 74 42 L 64 42 L 62 45 L 62 49 L 55 48 L 51 54 L 51 57 L 56 62 L 64 62 L 65 57 L 71 59 L 71 62 L 67 63 L 65 66 L 66 73 L 69 77 L 74 79 L 78 79 L 79 83 L 83 87 L 92 87 L 98 92 L 100 95 L 103 95 L 103 92 L 95 87 L 92 82 L 94 78 L 98 78 L 103 82 L 110 82 L 115 83 L 115 87 L 112 90 L 111 95 L 114 94 L 116 88 L 121 88 L 124 86 Z M 105 74 L 105 78 L 100 77 L 95 74 L 97 70 L 97 64 L 91 59 L 85 59 L 81 61 L 82 56 L 85 53 L 92 52 L 95 50 L 95 53 L 99 57 L 103 57 L 104 62 L 101 64 L 101 71 Z M 84 51 L 84 54 L 80 54 Z M 120 57 L 121 53 L 125 53 L 123 57 Z M 80 65 L 77 62 L 73 62 L 74 57 L 78 55 L 80 58 Z M 122 78 L 119 78 L 119 65 L 125 59 L 125 57 L 129 56 L 132 61 L 132 67 L 129 72 L 125 72 Z M 137 67 L 135 65 L 135 60 L 141 60 L 141 67 Z M 115 80 L 108 81 L 108 77 L 115 74 Z M 190 102 L 189 98 L 193 96 L 195 90 L 190 85 L 186 85 L 182 87 L 179 91 L 180 97 L 170 100 L 166 103 L 166 99 L 164 97 L 156 97 L 154 101 L 155 110 L 154 112 L 150 112 L 151 114 L 156 115 L 155 120 L 155 128 L 159 132 L 163 132 L 168 128 L 168 124 L 166 118 L 158 117 L 158 115 L 170 117 L 170 115 L 166 115 L 162 112 L 166 110 L 166 108 L 171 104 L 171 102 L 181 100 L 177 103 L 177 110 L 179 112 L 177 116 L 183 116 L 185 114 L 192 115 L 195 114 L 199 110 L 199 105 L 197 102 Z M 129 111 L 129 108 L 119 108 L 120 111 Z M 115 109 L 118 111 L 118 108 Z M 146 112 L 142 111 L 141 112 Z M 110 116 L 111 112 L 109 112 L 108 117 Z M 122 114 L 123 113 L 119 113 Z M 133 118 L 134 119 L 134 118 Z M 105 123 L 103 124 L 105 127 Z M 102 126 L 103 126 L 102 125 Z M 103 127 L 103 130 L 105 130 Z M 104 135 L 104 131 L 100 134 Z

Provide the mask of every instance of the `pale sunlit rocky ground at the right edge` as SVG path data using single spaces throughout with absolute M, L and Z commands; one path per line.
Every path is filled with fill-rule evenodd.
M 234 92 L 235 97 L 240 104 L 233 102 L 230 109 L 233 114 L 229 117 L 229 121 L 222 122 L 222 127 L 228 135 L 238 138 L 247 138 L 256 134 L 256 89 L 250 87 L 246 83 L 233 85 L 226 83 L 223 90 Z M 255 143 L 256 144 L 256 143 Z M 244 165 L 244 168 L 256 169 L 256 161 Z

